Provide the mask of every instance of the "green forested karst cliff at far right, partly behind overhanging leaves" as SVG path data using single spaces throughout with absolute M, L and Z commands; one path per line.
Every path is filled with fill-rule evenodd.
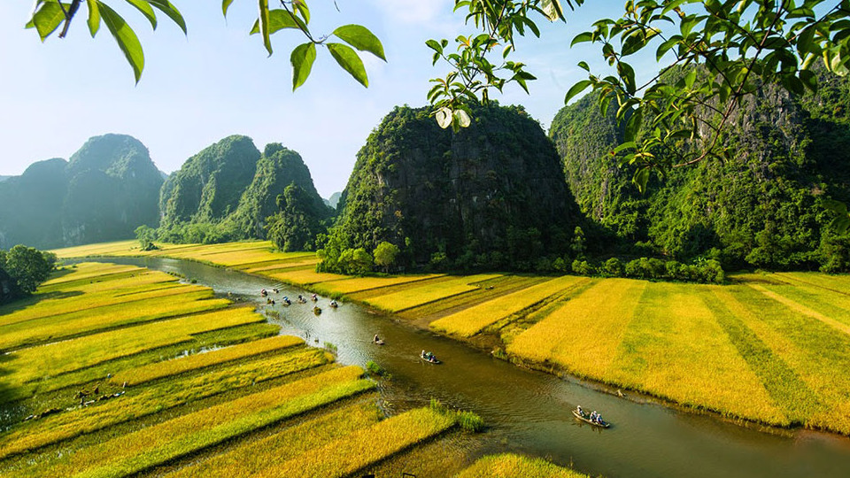
M 622 135 L 591 96 L 561 110 L 550 135 L 582 211 L 617 235 L 679 259 L 811 267 L 831 220 L 821 199 L 850 199 L 848 85 L 824 77 L 802 98 L 765 85 L 723 138 L 730 161 L 677 168 L 645 195 L 608 154 Z

